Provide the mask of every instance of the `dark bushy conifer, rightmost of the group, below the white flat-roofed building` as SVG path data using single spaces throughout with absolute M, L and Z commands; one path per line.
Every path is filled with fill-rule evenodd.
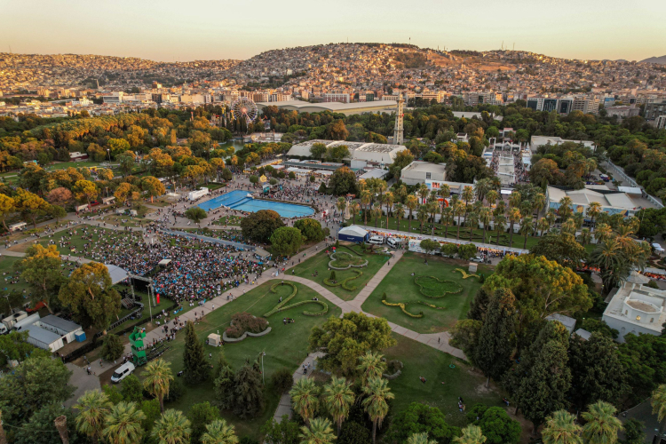
M 569 347 L 571 399 L 578 408 L 605 400 L 614 404 L 628 389 L 627 373 L 610 337 L 592 333 L 589 340 L 572 338 Z

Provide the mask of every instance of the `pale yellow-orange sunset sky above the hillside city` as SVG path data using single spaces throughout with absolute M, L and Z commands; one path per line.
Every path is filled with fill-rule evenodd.
M 666 55 L 664 0 L 0 0 L 0 52 L 249 59 L 338 42 L 506 48 L 567 59 Z

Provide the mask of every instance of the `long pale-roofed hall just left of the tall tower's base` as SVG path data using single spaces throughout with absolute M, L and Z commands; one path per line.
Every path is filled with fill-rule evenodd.
M 315 143 L 321 143 L 327 148 L 345 146 L 349 150 L 353 169 L 365 168 L 367 165 L 383 167 L 390 165 L 400 151 L 407 150 L 404 145 L 389 145 L 385 143 L 347 142 L 345 140 L 313 139 L 298 143 L 289 149 L 288 157 L 311 157 L 310 148 Z

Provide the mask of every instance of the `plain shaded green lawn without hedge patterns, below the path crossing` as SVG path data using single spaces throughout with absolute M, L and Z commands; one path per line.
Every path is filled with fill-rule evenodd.
M 458 396 L 463 398 L 467 408 L 477 402 L 503 406 L 502 394 L 487 389 L 486 378 L 478 370 L 472 371 L 468 364 L 429 345 L 396 334 L 393 337 L 398 344 L 383 353 L 387 360 L 395 359 L 404 364 L 400 377 L 389 382 L 395 394 L 393 414 L 412 402 L 425 402 L 440 408 L 448 424 L 464 427 L 467 420 L 458 411 Z M 455 368 L 451 369 L 451 365 Z M 425 378 L 425 384 L 419 377 Z

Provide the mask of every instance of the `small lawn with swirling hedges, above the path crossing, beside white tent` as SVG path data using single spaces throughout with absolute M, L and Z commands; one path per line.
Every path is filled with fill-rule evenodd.
M 351 251 L 345 249 L 344 247 L 340 247 L 339 250 L 351 253 Z M 363 268 L 352 267 L 348 270 L 335 270 L 336 280 L 338 282 L 342 282 L 346 278 L 355 276 L 357 274 L 356 271 L 358 270 L 363 272 L 361 277 L 354 279 L 353 281 L 348 281 L 347 285 L 356 287 L 356 289 L 353 291 L 343 289 L 341 285 L 338 285 L 337 287 L 329 287 L 324 283 L 324 279 L 329 279 L 330 277 L 329 261 L 331 260 L 326 255 L 325 250 L 321 251 L 313 258 L 307 259 L 303 264 L 297 263 L 296 267 L 293 269 L 296 271 L 295 274 L 297 276 L 315 281 L 321 284 L 321 286 L 324 288 L 329 289 L 337 297 L 348 301 L 356 297 L 356 295 L 361 292 L 361 289 L 365 287 L 365 284 L 368 283 L 370 279 L 372 279 L 372 276 L 374 276 L 377 271 L 379 271 L 379 268 L 381 268 L 388 260 L 388 257 L 383 254 L 364 254 L 361 256 L 361 258 L 368 260 L 368 266 L 364 266 Z M 293 258 L 293 260 L 297 261 L 297 258 Z M 313 274 L 317 272 L 318 275 L 314 277 Z

